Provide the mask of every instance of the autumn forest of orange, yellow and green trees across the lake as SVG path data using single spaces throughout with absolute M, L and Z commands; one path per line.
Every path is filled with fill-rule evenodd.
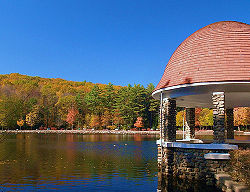
M 2 129 L 156 129 L 159 101 L 151 96 L 154 88 L 151 83 L 147 87 L 117 86 L 18 73 L 0 75 L 0 126 Z M 185 110 L 177 109 L 179 127 L 184 114 Z M 236 108 L 234 115 L 236 126 L 244 128 L 250 124 L 249 108 Z M 197 108 L 196 126 L 212 124 L 212 110 Z

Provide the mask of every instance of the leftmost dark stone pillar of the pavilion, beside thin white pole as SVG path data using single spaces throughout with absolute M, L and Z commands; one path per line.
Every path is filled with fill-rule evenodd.
M 163 138 L 164 141 L 176 141 L 176 100 L 163 101 Z

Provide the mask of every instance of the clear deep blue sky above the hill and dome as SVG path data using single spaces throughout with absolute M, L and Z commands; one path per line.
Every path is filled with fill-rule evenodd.
M 159 82 L 178 45 L 249 0 L 1 0 L 1 74 L 115 85 Z

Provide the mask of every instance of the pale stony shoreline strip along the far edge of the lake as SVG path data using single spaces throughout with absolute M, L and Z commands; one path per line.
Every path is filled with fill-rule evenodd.
M 111 134 L 111 135 L 159 135 L 160 131 L 130 131 L 130 130 L 0 130 L 1 133 L 37 133 L 37 134 Z M 181 130 L 176 131 L 176 134 L 182 135 Z M 235 131 L 235 135 L 250 135 L 250 132 Z M 199 130 L 195 131 L 195 135 L 213 135 L 213 130 Z

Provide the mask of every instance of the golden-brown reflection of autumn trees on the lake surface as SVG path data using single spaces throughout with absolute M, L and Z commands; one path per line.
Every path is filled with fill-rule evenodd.
M 0 164 L 2 183 L 115 176 L 135 179 L 145 178 L 145 174 L 147 180 L 157 171 L 156 159 L 143 159 L 143 141 L 134 142 L 133 137 L 16 134 L 9 138 L 0 149 L 0 157 L 6 157 L 6 163 Z

